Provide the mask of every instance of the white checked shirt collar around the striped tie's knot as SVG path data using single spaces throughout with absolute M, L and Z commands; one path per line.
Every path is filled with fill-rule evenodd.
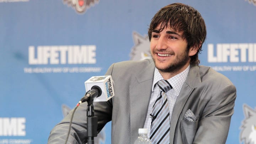
M 181 73 L 167 80 L 171 84 L 172 88 L 174 89 L 177 97 L 180 94 L 181 88 L 187 78 L 189 68 L 190 68 L 190 65 L 188 65 L 188 67 L 185 70 L 183 70 Z M 164 78 L 160 74 L 159 70 L 155 68 L 152 91 L 154 90 L 155 84 L 162 79 Z

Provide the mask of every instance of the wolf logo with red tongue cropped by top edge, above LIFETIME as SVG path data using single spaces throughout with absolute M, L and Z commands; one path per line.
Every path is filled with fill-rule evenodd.
M 83 14 L 87 9 L 100 0 L 63 0 L 64 4 L 72 6 L 78 14 Z

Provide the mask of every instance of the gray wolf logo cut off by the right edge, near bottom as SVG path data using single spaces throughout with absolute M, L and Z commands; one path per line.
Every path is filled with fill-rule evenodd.
M 244 141 L 244 144 L 256 144 L 256 108 L 253 110 L 244 105 L 244 115 L 245 119 L 240 127 L 240 143 Z

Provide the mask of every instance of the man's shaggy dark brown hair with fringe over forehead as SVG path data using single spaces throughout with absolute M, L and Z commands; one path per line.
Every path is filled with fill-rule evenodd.
M 201 14 L 193 7 L 181 3 L 163 7 L 151 20 L 148 29 L 149 41 L 153 30 L 160 24 L 160 32 L 169 26 L 175 31 L 183 32 L 182 38 L 186 39 L 188 49 L 192 46 L 198 47 L 197 53 L 190 57 L 190 64 L 198 65 L 198 53 L 201 53 L 202 44 L 206 39 L 206 25 Z

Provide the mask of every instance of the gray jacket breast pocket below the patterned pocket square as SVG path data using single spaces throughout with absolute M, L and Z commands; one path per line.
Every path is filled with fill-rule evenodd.
M 194 141 L 194 136 L 196 135 L 198 127 L 198 117 L 197 121 L 190 122 L 186 120 L 181 121 L 181 137 L 183 144 L 192 144 Z

